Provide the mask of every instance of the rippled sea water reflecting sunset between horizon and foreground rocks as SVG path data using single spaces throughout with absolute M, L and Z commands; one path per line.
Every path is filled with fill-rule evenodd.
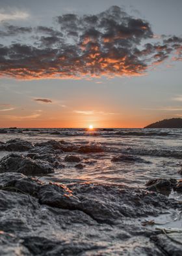
M 181 178 L 182 129 L 9 129 L 8 133 L 0 134 L 2 142 L 12 138 L 32 143 L 49 139 L 65 140 L 79 146 L 96 144 L 103 148 L 102 153 L 74 153 L 83 159 L 85 167 L 82 170 L 75 168 L 75 163 L 64 163 L 64 168 L 56 170 L 53 176 L 42 177 L 42 180 L 144 187 L 151 178 Z M 0 152 L 0 158 L 8 153 Z M 136 155 L 144 161 L 110 161 L 120 153 Z M 65 155 L 70 154 L 60 154 L 62 161 Z

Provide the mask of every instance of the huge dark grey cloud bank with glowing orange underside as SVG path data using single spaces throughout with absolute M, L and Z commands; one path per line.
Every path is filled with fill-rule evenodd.
M 7 27 L 14 35 L 33 33 L 29 44 L 0 45 L 0 73 L 18 79 L 140 76 L 175 52 L 181 59 L 182 39 L 156 42 L 149 22 L 120 7 L 97 15 L 65 14 L 55 27 Z M 13 34 L 13 32 L 12 32 Z M 25 34 L 26 35 L 26 34 Z M 144 40 L 150 40 L 144 44 Z

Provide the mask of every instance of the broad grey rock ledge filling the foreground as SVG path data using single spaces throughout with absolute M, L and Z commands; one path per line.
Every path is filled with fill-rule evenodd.
M 142 217 L 181 210 L 164 195 L 98 184 L 42 184 L 0 174 L 0 255 L 181 255 L 180 233 Z

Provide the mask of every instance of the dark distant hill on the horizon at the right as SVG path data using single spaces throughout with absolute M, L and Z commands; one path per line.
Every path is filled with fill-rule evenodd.
M 151 123 L 144 128 L 182 128 L 182 118 L 171 118 Z

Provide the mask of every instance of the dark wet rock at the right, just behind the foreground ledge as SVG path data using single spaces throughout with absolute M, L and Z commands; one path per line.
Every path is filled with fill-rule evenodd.
M 175 188 L 177 180 L 175 179 L 153 179 L 149 180 L 145 185 L 148 191 L 155 191 L 163 195 L 170 195 L 172 189 Z

